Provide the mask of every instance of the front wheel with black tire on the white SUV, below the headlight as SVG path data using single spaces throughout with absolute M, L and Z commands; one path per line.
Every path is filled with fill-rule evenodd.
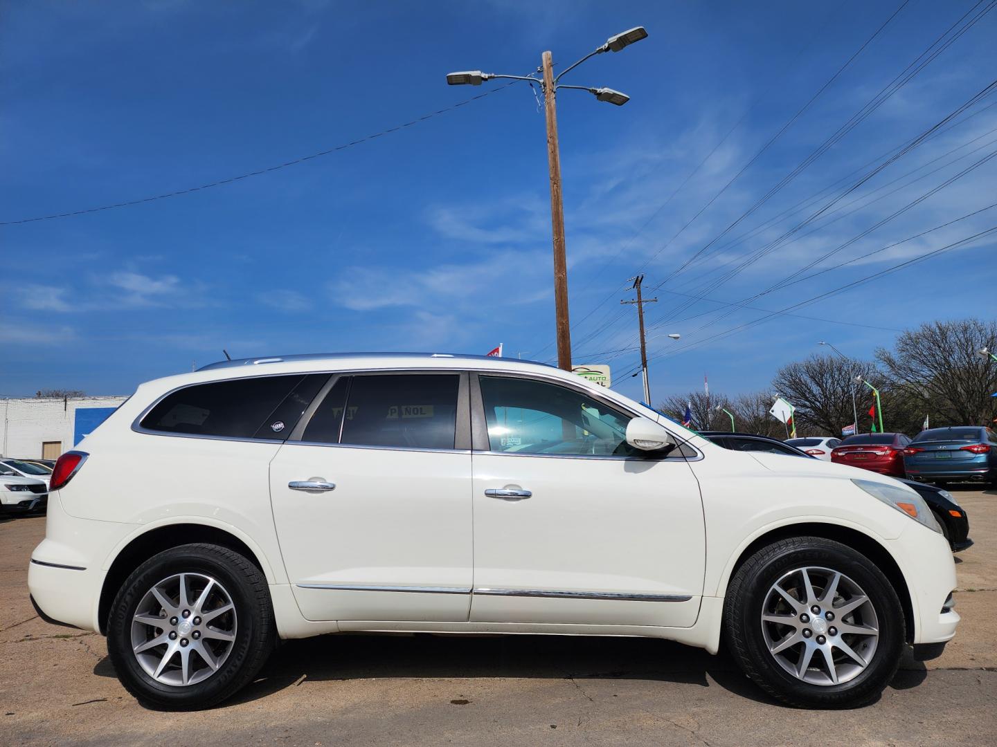
M 812 594 L 802 603 L 805 572 Z M 834 574 L 829 609 L 823 595 Z M 801 708 L 874 700 L 896 673 L 906 636 L 900 601 L 882 572 L 846 545 L 820 537 L 781 540 L 745 561 L 728 589 L 724 628 L 744 672 L 776 699 Z M 808 649 L 809 666 L 803 661 Z

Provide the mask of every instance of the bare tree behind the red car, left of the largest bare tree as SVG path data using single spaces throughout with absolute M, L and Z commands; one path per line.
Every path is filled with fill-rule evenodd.
M 772 385 L 797 408 L 798 432 L 806 429 L 808 432 L 813 430 L 815 435 L 836 435 L 854 417 L 852 395 L 859 401 L 865 399 L 856 389 L 862 386 L 855 382 L 858 374 L 877 378 L 872 367 L 861 361 L 814 355 L 806 361 L 784 366 L 776 373 Z M 859 412 L 862 411 L 859 408 Z

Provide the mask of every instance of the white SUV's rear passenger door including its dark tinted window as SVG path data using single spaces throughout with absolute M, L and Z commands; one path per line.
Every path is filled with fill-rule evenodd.
M 454 448 L 455 418 L 468 412 L 460 378 L 330 382 L 301 431 L 342 442 L 289 440 L 270 463 L 281 553 L 306 619 L 468 620 L 471 452 Z

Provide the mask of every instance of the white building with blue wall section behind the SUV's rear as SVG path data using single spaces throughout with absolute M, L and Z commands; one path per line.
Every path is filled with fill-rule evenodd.
M 124 402 L 126 396 L 0 399 L 0 455 L 55 459 Z

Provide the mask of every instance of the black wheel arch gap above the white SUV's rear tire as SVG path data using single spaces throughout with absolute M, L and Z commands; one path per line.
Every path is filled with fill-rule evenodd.
M 108 632 L 108 615 L 118 590 L 140 565 L 164 550 L 178 545 L 209 543 L 234 550 L 255 565 L 264 576 L 267 569 L 257 553 L 231 532 L 208 524 L 167 524 L 144 532 L 121 549 L 104 576 L 98 602 L 97 623 L 102 635 Z

